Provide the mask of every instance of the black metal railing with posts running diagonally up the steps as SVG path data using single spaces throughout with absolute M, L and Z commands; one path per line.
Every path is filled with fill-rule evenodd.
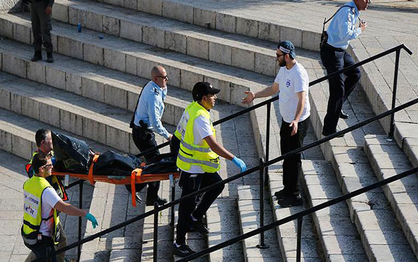
M 105 230 L 103 230 L 101 232 L 98 232 L 96 234 L 93 234 L 93 235 L 91 235 L 89 237 L 86 237 L 84 239 L 81 239 L 81 240 L 79 240 L 79 241 L 77 241 L 77 242 L 75 242 L 73 244 L 69 244 L 68 246 L 65 246 L 64 248 L 57 250 L 56 253 L 61 253 L 61 252 L 67 251 L 69 249 L 73 249 L 76 246 L 81 246 L 82 244 L 84 244 L 84 243 L 86 243 L 88 241 L 91 241 L 93 239 L 96 239 L 97 237 L 101 237 L 101 236 L 103 236 L 105 234 L 108 234 L 109 232 L 113 232 L 113 231 L 115 231 L 117 229 L 120 229 L 122 227 L 125 227 L 128 224 L 132 224 L 133 222 L 136 222 L 138 220 L 142 220 L 145 217 L 149 217 L 150 215 L 154 215 L 154 233 L 155 233 L 158 230 L 157 229 L 157 227 L 158 227 L 158 212 L 160 212 L 162 210 L 165 210 L 166 208 L 171 207 L 172 208 L 171 209 L 171 214 L 173 214 L 174 213 L 174 205 L 179 204 L 182 200 L 185 200 L 186 198 L 191 198 L 191 197 L 196 196 L 196 195 L 199 195 L 201 193 L 205 193 L 206 191 L 208 191 L 208 190 L 210 190 L 210 189 L 212 189 L 214 187 L 221 186 L 221 185 L 225 185 L 226 183 L 230 183 L 231 181 L 235 181 L 236 179 L 241 178 L 243 176 L 247 176 L 249 173 L 253 173 L 255 171 L 259 171 L 259 173 L 260 173 L 260 181 L 259 181 L 259 183 L 260 183 L 260 194 L 261 194 L 261 196 L 263 196 L 263 198 L 261 198 L 261 196 L 260 196 L 260 214 L 262 214 L 262 215 L 260 216 L 260 228 L 254 230 L 252 232 L 249 232 L 249 233 L 256 232 L 254 234 L 260 234 L 260 243 L 257 246 L 259 246 L 259 248 L 266 248 L 266 244 L 264 243 L 264 232 L 266 230 L 268 230 L 268 229 L 271 229 L 271 228 L 275 227 L 274 225 L 272 226 L 272 224 L 269 224 L 267 226 L 264 226 L 264 209 L 261 209 L 261 207 L 264 207 L 264 181 L 265 181 L 265 178 L 264 177 L 265 177 L 265 174 L 267 173 L 266 171 L 268 170 L 269 166 L 271 164 L 276 164 L 276 162 L 281 161 L 283 159 L 286 159 L 286 158 L 288 158 L 290 156 L 294 156 L 295 154 L 300 154 L 301 152 L 303 152 L 303 151 L 305 151 L 307 149 L 310 149 L 312 147 L 316 147 L 317 145 L 320 145 L 320 144 L 322 144 L 324 142 L 328 142 L 329 140 L 334 139 L 335 137 L 338 137 L 339 135 L 344 135 L 347 132 L 351 132 L 352 130 L 356 130 L 359 127 L 363 127 L 364 125 L 367 125 L 367 124 L 369 124 L 369 123 L 371 123 L 371 122 L 373 122 L 375 120 L 379 120 L 380 118 L 385 118 L 385 117 L 387 117 L 389 115 L 391 117 L 391 120 L 390 120 L 390 130 L 391 131 L 390 131 L 389 135 L 392 136 L 393 135 L 393 130 L 394 130 L 394 119 L 395 119 L 394 118 L 394 115 L 395 115 L 395 113 L 397 111 L 400 111 L 400 110 L 403 110 L 403 109 L 407 108 L 408 106 L 412 106 L 412 105 L 418 103 L 418 98 L 417 98 L 417 99 L 414 99 L 412 101 L 409 101 L 408 103 L 402 104 L 401 106 L 395 107 L 395 100 L 396 100 L 395 95 L 396 95 L 396 89 L 397 89 L 397 71 L 399 69 L 400 50 L 402 50 L 402 49 L 404 49 L 405 51 L 407 51 L 407 53 L 409 53 L 409 55 L 412 55 L 411 50 L 409 50 L 409 48 L 407 48 L 405 45 L 403 45 L 403 44 L 402 45 L 398 45 L 397 47 L 392 47 L 390 50 L 386 50 L 384 52 L 379 53 L 378 55 L 374 55 L 373 57 L 369 57 L 368 59 L 365 59 L 365 60 L 363 60 L 361 62 L 358 62 L 356 64 L 353 64 L 350 67 L 346 67 L 344 69 L 341 69 L 341 70 L 339 70 L 337 72 L 334 72 L 332 74 L 329 74 L 327 76 L 323 76 L 320 79 L 316 79 L 314 81 L 311 81 L 310 84 L 309 84 L 309 86 L 313 86 L 313 85 L 318 84 L 318 83 L 320 83 L 322 81 L 325 81 L 325 80 L 330 79 L 332 77 L 335 77 L 335 76 L 337 76 L 339 74 L 342 74 L 344 72 L 347 72 L 347 71 L 349 71 L 349 70 L 351 70 L 351 69 L 353 69 L 355 67 L 359 67 L 359 66 L 361 66 L 363 64 L 366 64 L 368 62 L 372 62 L 373 60 L 378 59 L 380 57 L 383 57 L 385 55 L 389 55 L 392 52 L 396 52 L 395 76 L 394 76 L 395 79 L 394 79 L 393 95 L 392 95 L 392 109 L 386 111 L 385 113 L 381 113 L 380 115 L 376 115 L 373 118 L 369 118 L 367 120 L 364 120 L 361 123 L 358 123 L 358 124 L 353 125 L 351 127 L 347 127 L 344 130 L 341 130 L 339 132 L 335 132 L 334 134 L 329 135 L 327 137 L 324 137 L 322 139 L 319 139 L 319 140 L 317 140 L 315 142 L 312 142 L 311 144 L 307 144 L 306 146 L 300 147 L 299 149 L 295 149 L 292 152 L 288 152 L 287 154 L 283 154 L 282 156 L 278 156 L 278 157 L 276 157 L 275 159 L 272 159 L 272 160 L 269 160 L 269 137 L 270 137 L 269 129 L 270 129 L 270 118 L 271 118 L 270 112 L 271 112 L 271 103 L 273 101 L 278 100 L 278 96 L 274 96 L 273 98 L 269 98 L 266 101 L 263 101 L 261 103 L 258 103 L 256 105 L 254 105 L 254 106 L 251 106 L 251 107 L 246 108 L 244 110 L 241 110 L 241 111 L 239 111 L 237 113 L 234 113 L 232 115 L 229 115 L 226 118 L 222 118 L 220 120 L 217 120 L 217 121 L 215 121 L 213 123 L 213 125 L 219 125 L 220 123 L 224 123 L 227 120 L 230 120 L 232 118 L 236 118 L 239 115 L 242 115 L 244 113 L 248 113 L 248 112 L 250 112 L 252 110 L 255 110 L 256 108 L 260 108 L 261 106 L 266 105 L 266 108 L 267 108 L 267 114 L 266 114 L 267 115 L 267 127 L 266 127 L 266 152 L 264 153 L 265 154 L 265 160 L 261 157 L 261 159 L 260 159 L 260 165 L 259 166 L 255 166 L 252 169 L 247 169 L 247 171 L 244 171 L 242 173 L 238 173 L 235 176 L 230 176 L 229 178 L 226 178 L 223 181 L 220 181 L 218 183 L 215 183 L 215 184 L 213 184 L 211 186 L 208 186 L 206 188 L 202 188 L 202 189 L 200 189 L 200 190 L 198 190 L 198 191 L 196 191 L 194 193 L 190 193 L 188 195 L 185 195 L 182 198 L 179 198 L 177 200 L 174 200 L 174 190 L 171 190 L 171 192 L 172 192 L 171 193 L 172 201 L 170 203 L 166 203 L 165 205 L 162 205 L 162 206 L 154 205 L 154 210 L 149 210 L 148 212 L 145 212 L 142 215 L 138 215 L 137 217 L 133 217 L 130 220 L 127 220 L 127 221 L 122 222 L 120 224 L 117 224 L 117 225 L 115 225 L 113 227 L 110 227 L 108 229 L 105 229 Z M 169 144 L 169 142 L 165 142 L 163 144 L 159 144 L 157 147 L 154 147 L 152 149 L 148 149 L 148 150 L 146 150 L 146 151 L 138 154 L 137 156 L 142 156 L 144 154 L 147 154 L 148 152 L 152 152 L 152 151 L 154 151 L 156 149 L 160 149 L 162 147 L 165 147 L 168 144 Z M 347 195 L 350 195 L 350 194 L 347 194 Z M 329 201 L 329 202 L 332 202 L 332 201 Z M 321 205 L 318 205 L 316 207 L 322 207 L 322 205 L 324 205 L 324 204 L 325 203 L 323 203 Z M 324 208 L 324 207 L 322 207 L 322 208 Z M 314 207 L 312 207 L 312 208 L 314 208 Z M 311 210 L 311 209 L 309 209 L 309 210 Z M 319 209 L 315 209 L 315 211 L 317 211 L 317 210 L 319 210 Z M 305 210 L 305 211 L 307 211 L 307 210 Z M 304 211 L 303 214 L 305 214 L 305 211 Z M 313 212 L 315 212 L 315 211 L 313 211 Z M 295 215 L 298 215 L 298 214 L 295 214 Z M 293 219 L 298 218 L 298 217 L 295 217 L 295 215 L 292 215 L 290 217 L 293 217 Z M 278 222 L 281 222 L 281 221 L 288 222 L 288 221 L 291 221 L 293 219 L 288 219 L 288 217 L 286 217 L 286 218 L 284 218 L 282 220 L 278 220 L 277 222 L 274 222 L 273 224 L 276 224 L 276 226 L 277 226 L 278 225 L 277 224 Z M 285 222 L 283 222 L 283 223 L 285 223 Z M 298 224 L 301 225 L 301 223 L 302 223 L 302 220 L 301 219 L 298 220 Z M 174 215 L 171 216 L 171 224 L 174 225 Z M 262 229 L 264 229 L 264 230 L 262 230 Z M 237 237 L 235 239 L 238 239 L 239 238 L 239 240 L 237 240 L 237 241 L 241 241 L 241 240 L 246 239 L 248 237 L 254 236 L 254 234 L 249 234 L 249 233 L 244 234 L 242 236 L 239 236 L 239 237 L 242 237 L 242 238 Z M 300 234 L 300 230 L 298 230 L 298 234 Z M 300 238 L 300 236 L 298 236 L 298 238 Z M 235 241 L 235 239 L 231 239 L 230 241 L 232 241 L 232 240 Z M 187 261 L 186 259 L 193 259 L 193 258 L 197 258 L 198 256 L 204 256 L 205 254 L 208 254 L 208 253 L 210 253 L 212 251 L 215 251 L 215 250 L 218 250 L 218 249 L 220 249 L 222 247 L 227 246 L 225 244 L 227 242 L 228 241 L 225 241 L 224 243 L 218 244 L 216 246 L 212 246 L 209 249 L 206 249 L 205 251 L 201 251 L 201 252 L 199 252 L 197 254 L 194 254 L 193 256 L 190 256 L 188 258 L 183 258 L 180 261 Z M 231 244 L 233 244 L 233 243 L 231 243 Z M 298 245 L 300 245 L 300 241 L 298 241 Z M 218 249 L 215 249 L 215 247 L 219 247 L 219 248 Z M 298 251 L 299 251 L 299 254 L 298 254 L 299 260 L 298 261 L 300 261 L 300 248 L 298 249 Z M 157 261 L 157 234 L 154 234 L 154 254 L 153 254 L 153 256 L 154 256 L 154 261 Z M 42 261 L 41 259 L 42 258 L 38 258 L 35 261 Z

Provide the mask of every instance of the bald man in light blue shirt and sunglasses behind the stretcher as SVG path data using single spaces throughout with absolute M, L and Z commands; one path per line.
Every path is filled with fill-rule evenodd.
M 167 140 L 171 140 L 172 137 L 161 123 L 169 76 L 167 76 L 164 67 L 156 66 L 152 67 L 151 78 L 152 80 L 149 81 L 141 91 L 131 121 L 133 142 L 137 148 L 140 149 L 140 152 L 157 146 L 154 132 L 157 132 Z M 145 154 L 145 159 L 149 161 L 158 155 L 159 151 L 155 150 Z M 164 205 L 167 201 L 158 196 L 159 182 L 147 184 L 147 205 L 154 205 L 155 201 L 157 201 L 159 205 Z M 135 198 L 137 202 L 141 202 L 139 192 L 147 184 L 142 183 L 136 185 L 137 193 Z M 129 185 L 127 185 L 126 188 L 130 190 Z

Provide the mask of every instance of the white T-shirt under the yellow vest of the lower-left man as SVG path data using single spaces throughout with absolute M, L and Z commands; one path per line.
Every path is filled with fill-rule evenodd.
M 42 217 L 47 218 L 53 215 L 52 208 L 55 207 L 55 204 L 60 200 L 61 198 L 54 188 L 45 188 L 42 193 Z M 54 217 L 51 217 L 51 219 L 47 221 L 43 220 L 40 223 L 39 232 L 44 236 L 51 237 L 52 234 L 54 234 Z

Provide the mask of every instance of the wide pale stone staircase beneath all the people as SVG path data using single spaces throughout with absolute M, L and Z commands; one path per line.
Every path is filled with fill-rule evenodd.
M 211 110 L 213 120 L 218 120 L 242 109 L 244 91 L 257 91 L 272 83 L 278 70 L 274 56 L 276 41 L 292 40 L 297 47 L 314 51 L 319 41 L 317 33 L 297 29 L 298 26 L 288 28 L 171 0 L 56 0 L 53 18 L 55 63 L 33 63 L 30 62 L 33 50 L 29 45 L 32 36 L 27 14 L 0 14 L 0 35 L 8 38 L 0 40 L 0 69 L 3 71 L 0 72 L 0 96 L 5 98 L 0 102 L 0 107 L 4 108 L 0 111 L 3 121 L 0 149 L 25 159 L 35 148 L 35 130 L 45 126 L 70 132 L 94 147 L 97 144 L 101 152 L 107 148 L 101 144 L 106 144 L 121 152 L 137 153 L 128 123 L 140 90 L 155 64 L 164 66 L 169 74 L 169 97 L 163 122 L 173 132 L 183 109 L 191 102 L 190 91 L 196 81 L 210 81 L 222 89 L 219 96 L 222 101 Z M 77 23 L 83 27 L 81 33 L 77 33 Z M 206 23 L 216 30 L 203 28 Z M 297 59 L 312 81 L 323 76 L 324 71 L 317 52 L 307 50 L 297 50 Z M 356 48 L 354 57 L 366 58 L 367 53 L 361 50 Z M 380 113 L 385 108 L 383 96 L 375 99 L 380 91 L 375 78 L 367 76 L 368 67 L 362 70 L 364 91 L 358 87 L 344 105 L 351 117 L 340 121 L 341 129 L 371 117 L 373 110 Z M 327 89 L 327 83 L 310 89 L 312 127 L 305 144 L 321 137 Z M 274 116 L 279 114 L 277 104 L 273 105 L 271 113 L 270 159 L 280 155 L 280 120 Z M 402 119 L 402 113 L 397 114 L 397 120 Z M 373 150 L 375 139 L 373 143 L 368 143 L 370 137 L 364 139 L 368 134 L 384 135 L 387 120 L 381 123 L 383 127 L 373 123 L 344 139 L 323 144 L 322 154 L 318 149 L 304 152 L 303 207 L 281 208 L 271 198 L 281 189 L 281 164 L 271 166 L 266 190 L 271 206 L 266 204 L 265 224 L 384 177 L 373 173 L 373 169 L 385 169 L 373 160 L 382 152 Z M 411 135 L 414 127 L 410 123 L 397 123 L 395 140 L 409 161 L 417 166 L 418 140 Z M 242 158 L 247 166 L 259 164 L 258 158 L 265 152 L 265 108 L 223 123 L 216 129 L 218 141 Z M 163 142 L 162 137 L 157 139 Z M 397 148 L 393 143 L 390 147 Z M 397 154 L 403 156 L 404 153 L 397 150 Z M 405 157 L 404 160 L 407 161 Z M 222 160 L 222 178 L 238 172 L 230 161 Z M 225 185 L 221 197 L 206 215 L 210 234 L 207 237 L 189 234 L 188 244 L 200 251 L 258 227 L 258 180 L 258 174 L 250 174 Z M 407 185 L 408 193 L 413 185 Z M 321 210 L 312 217 L 304 217 L 303 261 L 416 261 L 415 220 L 410 213 L 402 212 L 408 207 L 411 209 L 414 202 L 402 202 L 405 194 L 402 201 L 397 202 L 394 194 L 401 189 L 390 191 L 388 188 L 373 190 L 347 203 Z M 169 182 L 164 181 L 161 195 L 169 198 L 170 190 Z M 176 188 L 177 197 L 180 193 Z M 269 203 L 267 199 L 266 203 Z M 149 207 L 130 206 L 130 195 L 123 186 L 97 183 L 91 193 L 90 212 L 97 215 L 101 229 L 145 210 Z M 169 210 L 164 210 L 159 220 L 158 261 L 172 261 L 170 220 Z M 97 230 L 87 226 L 84 234 L 94 232 Z M 295 261 L 295 232 L 296 222 L 289 222 L 266 232 L 269 249 L 256 249 L 254 246 L 259 240 L 254 236 L 197 261 Z M 11 256 L 15 255 L 18 256 Z M 142 261 L 152 260 L 152 217 L 85 244 L 81 261 L 137 261 L 139 257 Z

